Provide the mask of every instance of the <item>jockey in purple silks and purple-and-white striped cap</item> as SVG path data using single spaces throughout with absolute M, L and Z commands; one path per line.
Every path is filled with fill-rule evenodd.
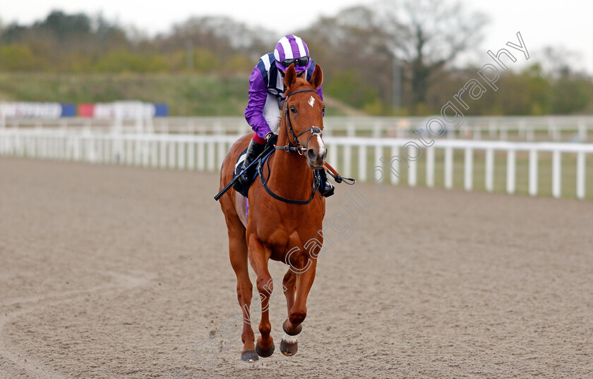
M 249 166 L 266 144 L 275 144 L 278 139 L 281 111 L 284 108 L 284 73 L 294 63 L 297 73 L 306 71 L 306 80 L 310 80 L 315 70 L 315 61 L 309 58 L 307 44 L 295 35 L 284 36 L 276 44 L 273 53 L 265 54 L 253 68 L 249 77 L 249 101 L 245 108 L 245 119 L 255 135 L 251 139 L 243 168 Z M 317 93 L 323 101 L 321 87 Z M 241 184 L 246 185 L 255 174 L 255 165 L 239 177 Z M 328 180 L 323 168 L 318 168 L 321 175 L 319 191 L 325 197 L 333 195 L 334 186 Z

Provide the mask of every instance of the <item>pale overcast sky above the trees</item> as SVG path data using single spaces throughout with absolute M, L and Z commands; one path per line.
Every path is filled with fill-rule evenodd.
M 68 13 L 102 12 L 110 20 L 116 19 L 121 24 L 135 25 L 140 30 L 155 34 L 167 31 L 173 23 L 191 16 L 228 15 L 250 25 L 274 30 L 280 38 L 310 25 L 320 15 L 335 15 L 347 6 L 371 2 L 323 0 L 316 1 L 314 7 L 303 5 L 297 8 L 291 5 L 298 3 L 283 1 L 0 0 L 0 20 L 4 24 L 15 20 L 31 23 L 44 18 L 52 9 Z M 520 31 L 530 54 L 544 46 L 562 46 L 579 54 L 580 57 L 574 59 L 575 68 L 593 74 L 593 1 L 465 0 L 462 4 L 468 10 L 484 12 L 491 18 L 491 23 L 485 29 L 486 38 L 473 60 L 475 64 L 489 62 L 486 55 L 489 49 L 498 51 L 508 41 L 517 43 L 515 34 Z M 291 10 L 282 11 L 288 8 Z M 525 57 L 517 56 L 517 59 L 525 61 Z

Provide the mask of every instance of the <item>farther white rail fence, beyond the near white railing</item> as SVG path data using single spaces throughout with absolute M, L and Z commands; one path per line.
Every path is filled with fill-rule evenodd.
M 325 117 L 324 134 L 349 137 L 411 137 L 409 130 L 425 129 L 431 117 Z M 243 117 L 168 117 L 138 120 L 109 118 L 60 118 L 0 120 L 6 128 L 62 128 L 109 130 L 118 125 L 121 130 L 138 132 L 147 123 L 148 130 L 187 134 L 244 134 L 251 131 Z M 587 142 L 593 131 L 592 116 L 467 116 L 458 130 L 446 137 L 462 139 L 551 140 Z

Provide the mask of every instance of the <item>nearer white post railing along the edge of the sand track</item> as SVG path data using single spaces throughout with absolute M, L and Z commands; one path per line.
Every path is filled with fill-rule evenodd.
M 237 135 L 185 134 L 111 134 L 103 132 L 74 132 L 72 130 L 0 130 L 0 156 L 27 156 L 41 159 L 114 163 L 153 168 L 216 171 L 220 168 L 229 146 Z M 328 145 L 328 162 L 342 175 L 354 175 L 357 180 L 400 182 L 407 173 L 408 185 L 418 185 L 419 151 L 411 151 L 411 139 L 373 137 L 324 137 Z M 443 156 L 443 184 L 453 187 L 454 151 L 463 151 L 465 190 L 473 190 L 476 165 L 474 156 L 484 154 L 484 188 L 495 187 L 495 152 L 506 154 L 506 192 L 516 192 L 517 153 L 529 154 L 529 194 L 539 193 L 539 156 L 551 153 L 551 194 L 561 197 L 563 154 L 575 154 L 575 195 L 586 196 L 586 157 L 593 154 L 593 144 L 558 142 L 503 142 L 467 139 L 438 139 L 433 146 L 421 149 L 426 154 L 422 162 L 426 185 L 433 187 L 437 173 L 436 151 Z M 385 154 L 388 151 L 388 154 Z M 372 163 L 372 164 L 369 164 Z M 441 164 L 441 162 L 438 162 Z M 356 169 L 354 169 L 356 166 Z M 589 178 L 593 179 L 593 178 Z

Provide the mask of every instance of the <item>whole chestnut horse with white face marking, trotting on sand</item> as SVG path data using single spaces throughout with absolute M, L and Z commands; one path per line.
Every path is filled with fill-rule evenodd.
M 236 294 L 243 313 L 243 350 L 241 361 L 257 361 L 274 352 L 270 336 L 268 304 L 274 281 L 268 271 L 268 260 L 289 264 L 282 280 L 288 307 L 282 324 L 282 354 L 296 353 L 296 335 L 301 332 L 307 315 L 306 300 L 317 266 L 316 253 L 323 244 L 321 223 L 325 215 L 325 198 L 316 192 L 313 170 L 322 168 L 327 149 L 321 138 L 324 105 L 316 89 L 323 73 L 316 66 L 308 82 L 290 66 L 284 75 L 286 101 L 278 130 L 275 153 L 263 165 L 263 176 L 256 178 L 248 192 L 249 211 L 245 198 L 231 189 L 220 198 L 229 232 L 229 256 L 236 274 Z M 220 170 L 220 189 L 233 178 L 234 166 L 246 149 L 253 133 L 241 137 L 227 154 Z M 264 179 L 265 178 L 265 179 Z M 263 181 L 265 180 L 264 187 Z M 271 192 L 271 193 L 270 193 Z M 314 246 L 312 246 L 314 245 Z M 257 275 L 261 300 L 260 337 L 251 328 L 252 288 L 247 261 Z M 296 294 L 296 297 L 295 297 Z

